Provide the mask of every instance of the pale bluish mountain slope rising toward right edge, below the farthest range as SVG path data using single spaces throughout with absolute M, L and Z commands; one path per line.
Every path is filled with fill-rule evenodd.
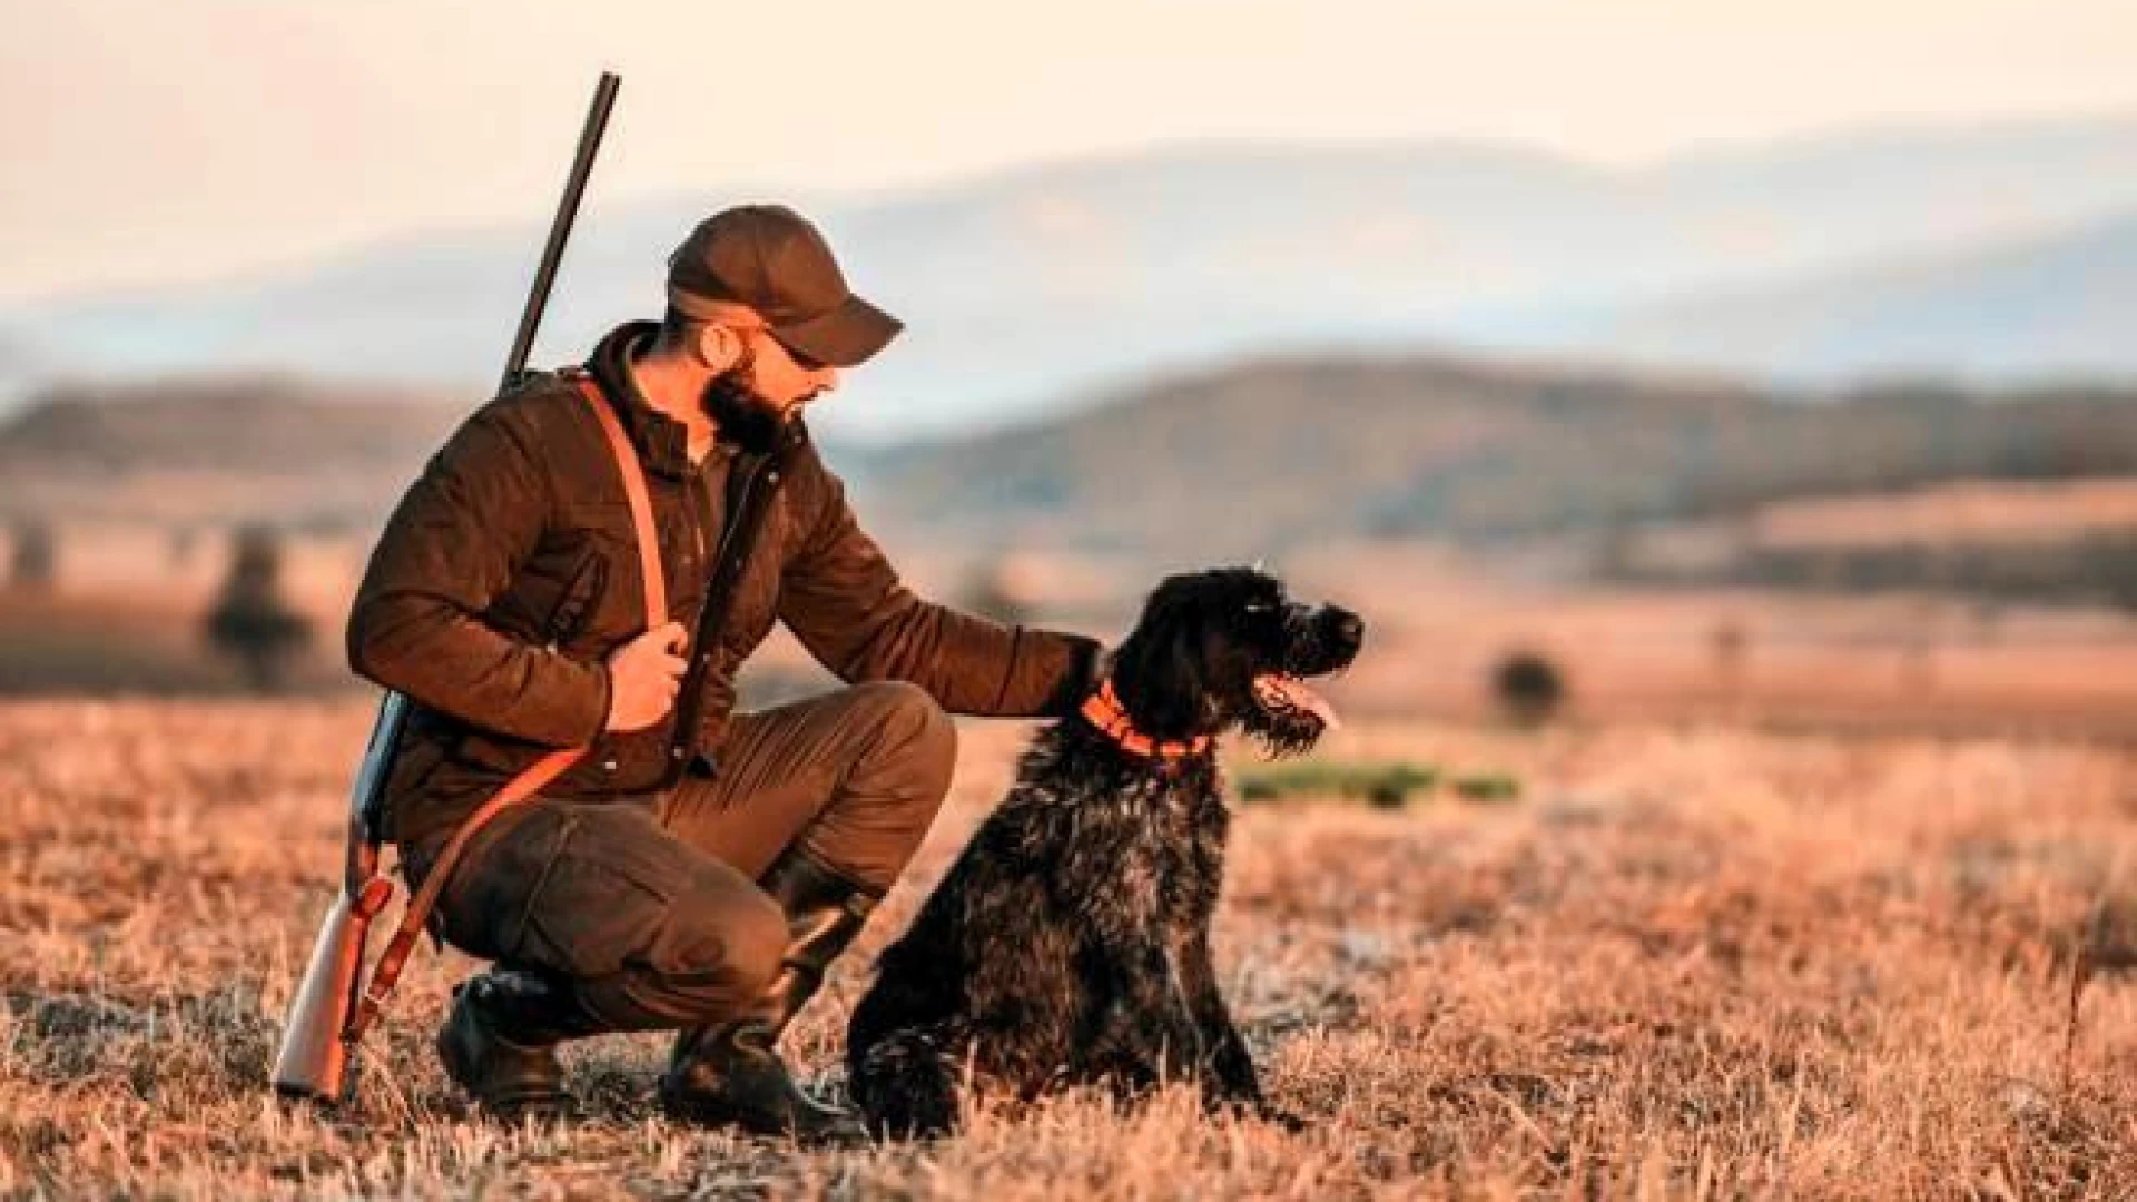
M 1797 379 L 2137 374 L 2137 216 L 1601 323 L 1611 355 Z

